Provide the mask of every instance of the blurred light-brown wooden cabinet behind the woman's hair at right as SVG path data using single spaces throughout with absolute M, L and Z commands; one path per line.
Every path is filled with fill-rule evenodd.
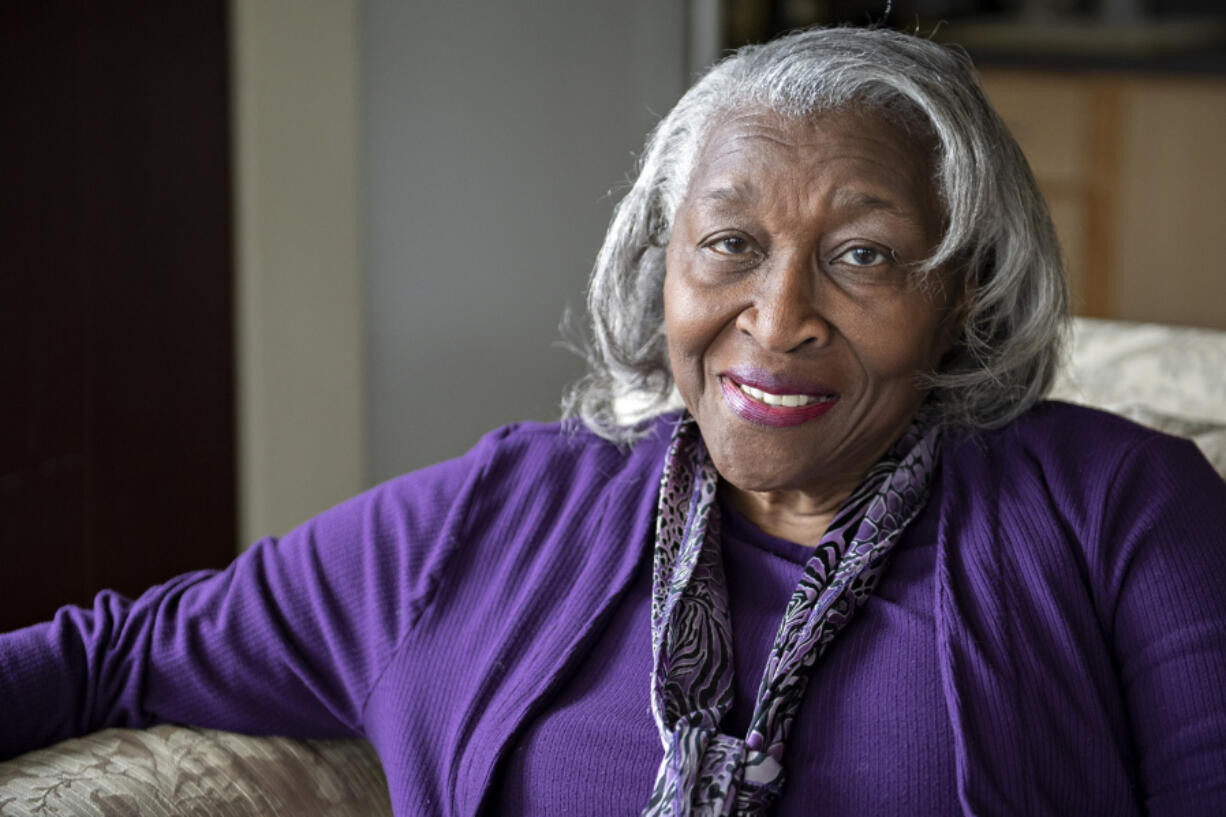
M 1226 80 L 981 71 L 1083 315 L 1226 329 Z

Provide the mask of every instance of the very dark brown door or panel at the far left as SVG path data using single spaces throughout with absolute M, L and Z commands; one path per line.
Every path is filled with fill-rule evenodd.
M 235 540 L 224 0 L 0 5 L 0 628 Z

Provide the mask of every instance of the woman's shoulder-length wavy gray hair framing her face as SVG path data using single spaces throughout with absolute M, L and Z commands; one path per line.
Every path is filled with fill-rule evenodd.
M 676 405 L 663 326 L 664 247 L 698 155 L 721 117 L 758 107 L 787 117 L 840 108 L 880 113 L 937 146 L 934 184 L 948 224 L 932 256 L 965 293 L 962 332 L 922 378 L 940 422 L 1002 426 L 1040 400 L 1068 324 L 1056 231 L 1026 159 L 961 52 L 888 29 L 825 28 L 747 45 L 699 80 L 647 137 L 588 283 L 588 374 L 564 415 L 611 440 Z

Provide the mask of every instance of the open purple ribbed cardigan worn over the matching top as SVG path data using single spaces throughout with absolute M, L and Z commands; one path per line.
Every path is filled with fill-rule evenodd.
M 222 573 L 0 635 L 0 758 L 166 720 L 362 735 L 397 815 L 492 807 L 650 551 L 668 431 L 503 428 Z M 1226 813 L 1226 483 L 1190 443 L 1041 404 L 948 443 L 908 536 L 961 813 Z

